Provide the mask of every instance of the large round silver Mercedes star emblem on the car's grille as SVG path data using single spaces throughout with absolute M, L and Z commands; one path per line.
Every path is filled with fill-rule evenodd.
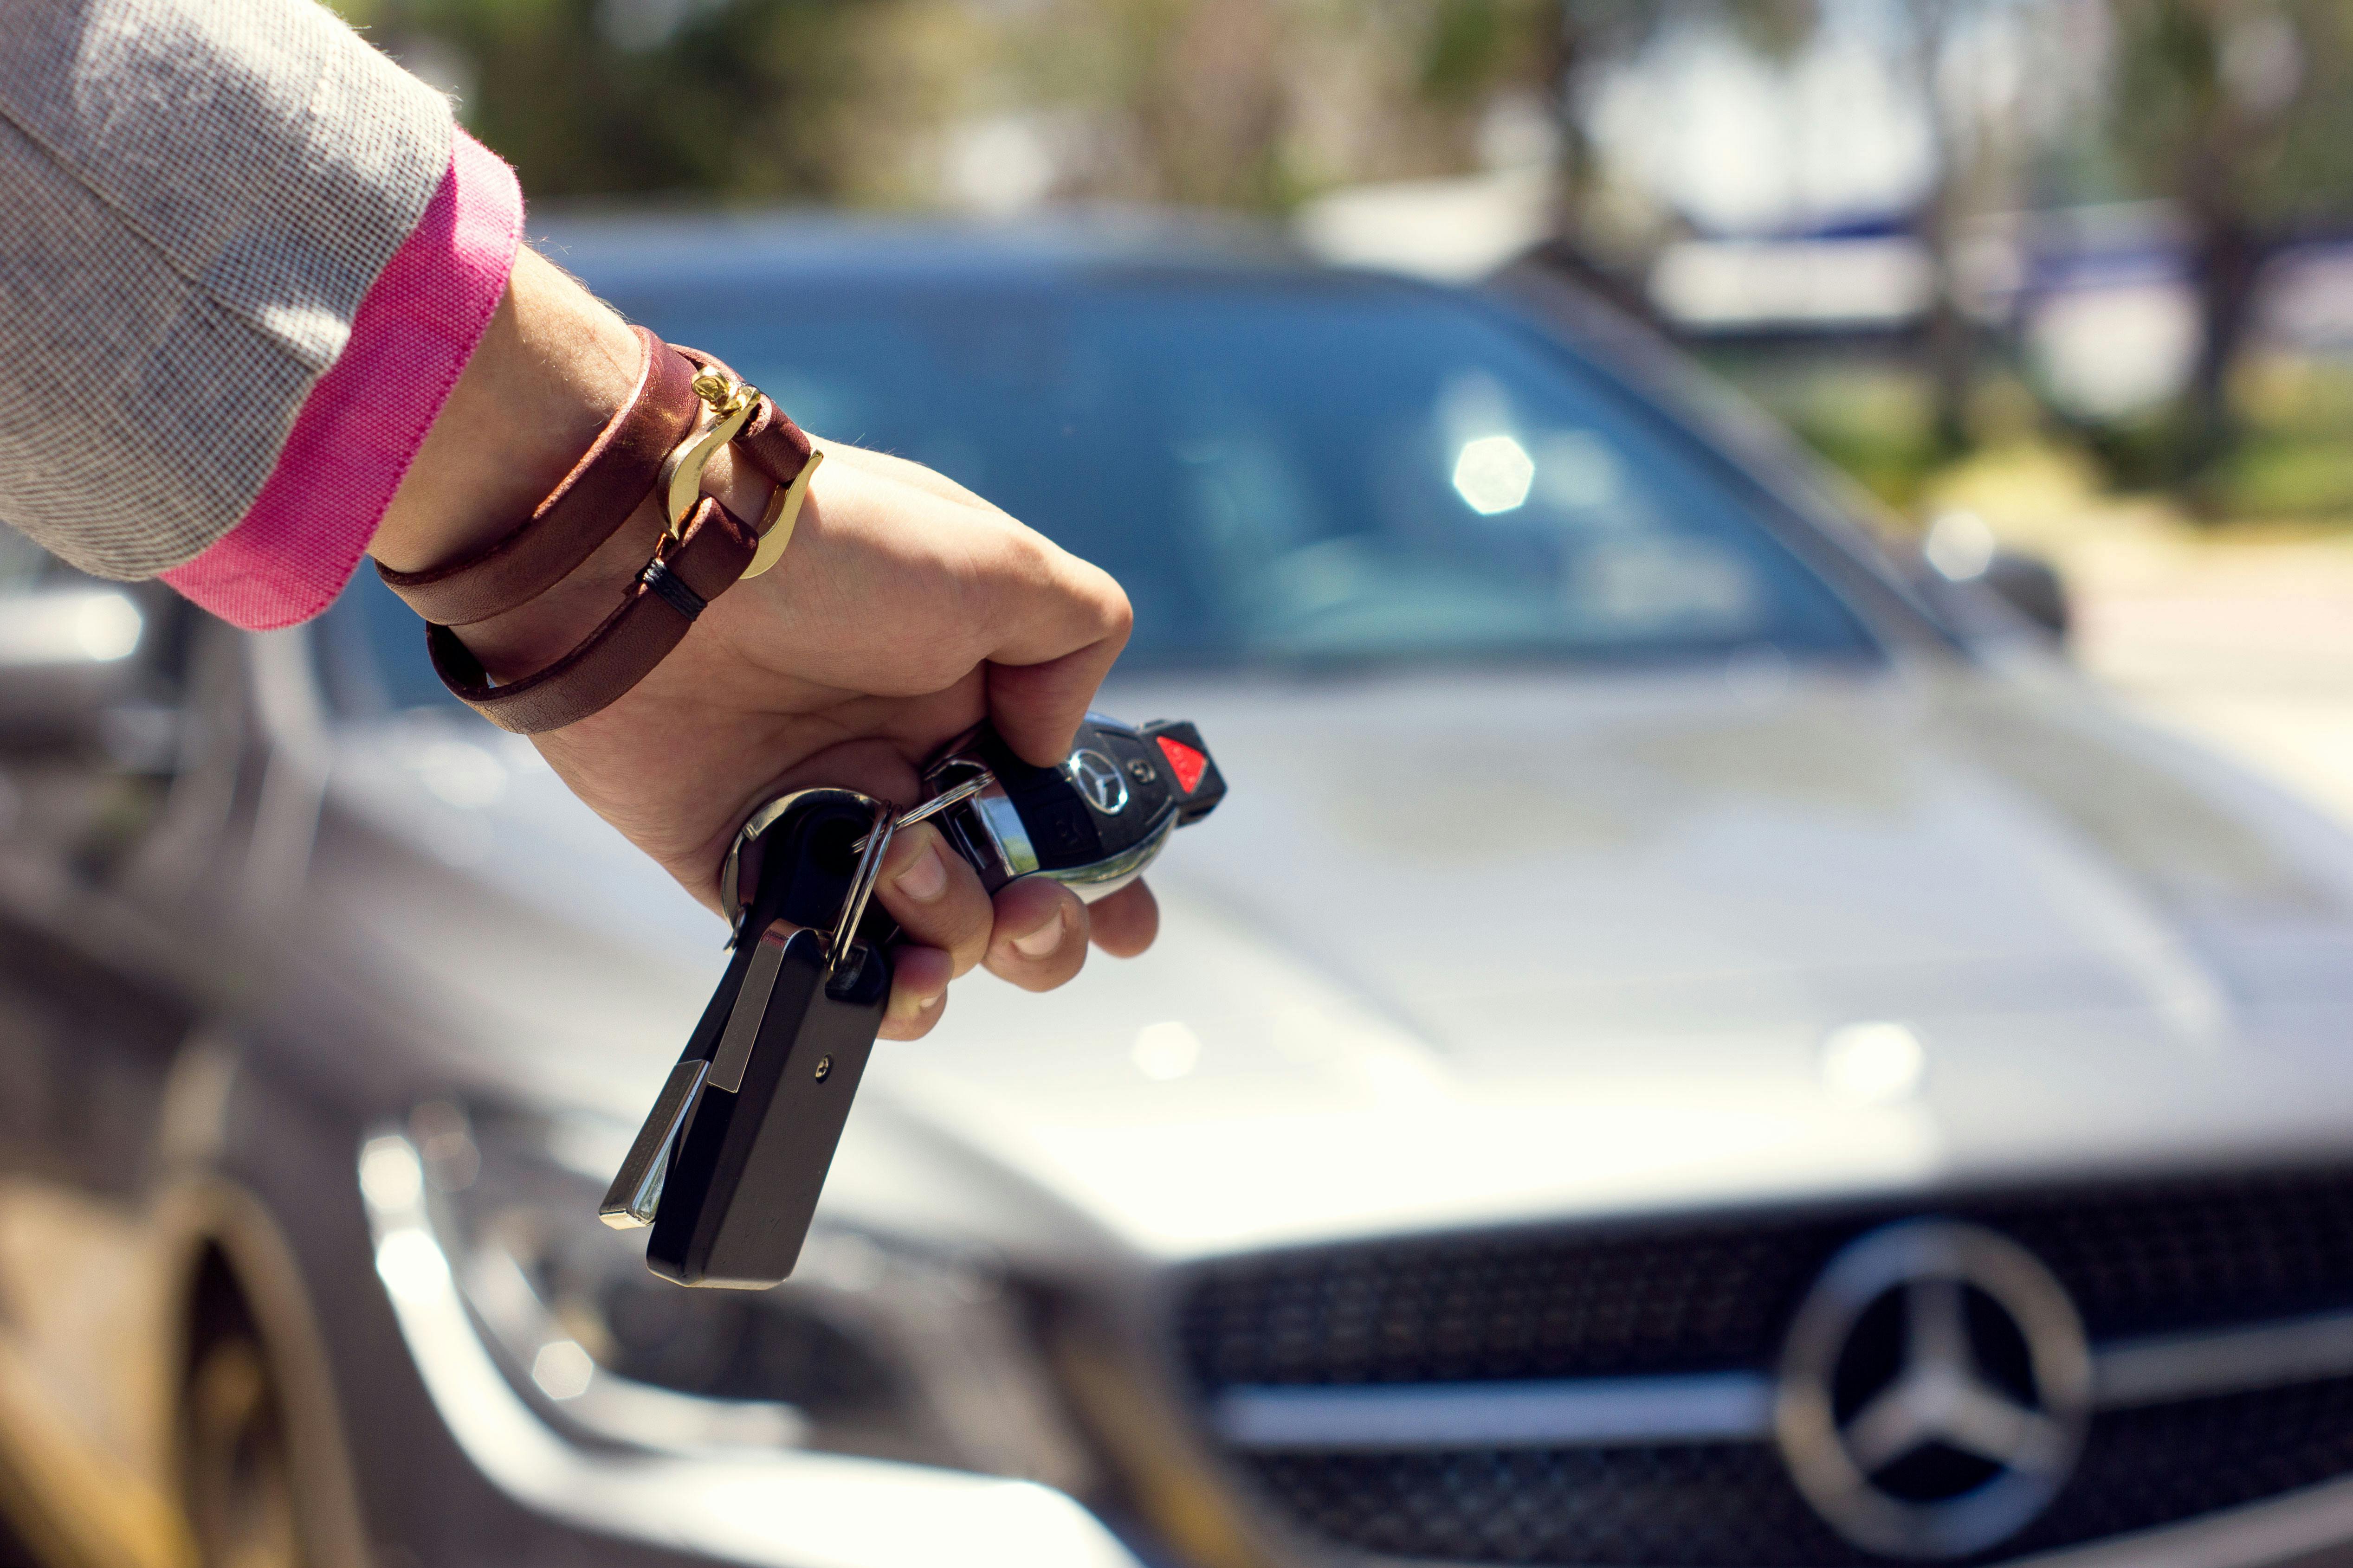
M 1781 1352 L 1774 1429 L 1831 1528 L 1892 1556 L 1967 1556 L 2021 1530 L 2075 1465 L 2092 1352 L 2033 1253 L 1908 1220 L 1814 1281 Z

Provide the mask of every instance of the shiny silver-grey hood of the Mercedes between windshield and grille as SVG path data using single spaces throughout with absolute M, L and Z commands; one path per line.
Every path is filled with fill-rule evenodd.
M 1167 682 L 1106 708 L 1198 719 L 1233 785 L 1155 872 L 1160 945 L 1047 997 L 960 985 L 932 1039 L 878 1053 L 828 1206 L 1188 1255 L 2353 1126 L 2344 839 L 2068 677 Z M 718 924 L 525 752 L 412 726 L 339 776 L 471 889 L 374 898 L 379 966 L 414 952 L 471 1070 L 638 1114 Z M 454 907 L 494 910 L 504 966 Z

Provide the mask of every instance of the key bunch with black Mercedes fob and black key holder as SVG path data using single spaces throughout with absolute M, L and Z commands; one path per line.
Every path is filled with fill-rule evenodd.
M 981 724 L 922 771 L 911 811 L 795 790 L 744 823 L 720 875 L 734 957 L 600 1213 L 652 1225 L 645 1262 L 682 1286 L 765 1291 L 793 1272 L 889 1004 L 896 922 L 873 905 L 901 827 L 941 837 L 995 893 L 1052 877 L 1094 900 L 1226 797 L 1191 724 L 1087 715 L 1061 766 Z

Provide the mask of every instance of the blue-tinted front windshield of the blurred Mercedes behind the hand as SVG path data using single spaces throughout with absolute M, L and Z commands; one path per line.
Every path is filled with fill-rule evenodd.
M 1447 292 L 816 277 L 616 303 L 1106 567 L 1136 607 L 1129 668 L 1873 649 L 1737 473 Z M 424 698 L 431 672 L 393 656 Z

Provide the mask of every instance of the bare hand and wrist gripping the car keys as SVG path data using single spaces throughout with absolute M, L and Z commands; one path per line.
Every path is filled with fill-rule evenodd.
M 395 569 L 459 557 L 527 512 L 602 423 L 600 400 L 609 414 L 635 376 L 619 317 L 525 256 L 468 364 L 478 386 L 452 393 L 379 531 L 374 552 Z M 541 407 L 548 383 L 558 409 Z M 779 567 L 715 597 L 621 701 L 534 736 L 598 816 L 711 907 L 734 830 L 784 790 L 913 804 L 920 759 L 981 717 L 1021 757 L 1061 762 L 1127 642 L 1127 597 L 1108 574 L 927 468 L 819 447 L 826 463 Z M 767 480 L 722 451 L 706 491 L 758 517 Z M 499 679 L 551 663 L 612 609 L 659 527 L 647 505 L 560 588 L 468 625 L 466 644 Z M 974 964 L 1047 990 L 1078 973 L 1089 938 L 1129 954 L 1158 929 L 1141 884 L 1092 910 L 1045 879 L 991 900 L 929 825 L 894 837 L 875 896 L 908 933 L 882 1025 L 894 1039 L 925 1034 L 948 980 Z

